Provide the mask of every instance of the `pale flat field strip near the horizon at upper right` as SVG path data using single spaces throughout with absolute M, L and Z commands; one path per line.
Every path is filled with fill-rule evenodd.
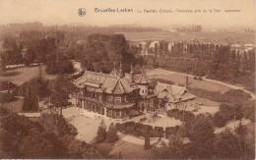
M 127 40 L 160 40 L 170 41 L 190 40 L 190 39 L 211 39 L 220 43 L 227 43 L 227 39 L 235 39 L 236 42 L 254 43 L 254 34 L 248 32 L 235 31 L 201 31 L 201 32 L 181 32 L 181 31 L 137 31 L 118 32 L 125 35 Z

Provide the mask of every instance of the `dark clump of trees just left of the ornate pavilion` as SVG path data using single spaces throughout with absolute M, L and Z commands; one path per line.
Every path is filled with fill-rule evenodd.
M 17 87 L 13 93 L 24 96 L 24 111 L 38 111 L 40 98 L 48 97 L 55 108 L 67 106 L 69 94 L 75 91 L 74 84 L 69 78 L 59 75 L 56 80 L 34 78 Z

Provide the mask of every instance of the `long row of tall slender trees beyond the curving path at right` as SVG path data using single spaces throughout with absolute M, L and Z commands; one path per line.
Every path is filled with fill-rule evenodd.
M 241 53 L 229 45 L 198 42 L 175 42 L 169 47 L 160 41 L 152 52 L 155 56 L 145 59 L 149 65 L 254 88 L 255 49 Z

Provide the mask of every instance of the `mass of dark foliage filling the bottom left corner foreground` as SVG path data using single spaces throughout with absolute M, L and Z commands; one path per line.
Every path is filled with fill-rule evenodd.
M 100 158 L 90 144 L 75 138 L 74 127 L 55 114 L 42 114 L 39 122 L 3 112 L 0 140 L 1 158 Z M 49 128 L 50 127 L 50 128 Z

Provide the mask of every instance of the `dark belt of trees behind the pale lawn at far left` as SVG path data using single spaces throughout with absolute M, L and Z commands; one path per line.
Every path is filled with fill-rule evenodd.
M 33 62 L 46 64 L 48 74 L 65 74 L 73 72 L 73 65 L 62 46 L 64 33 L 60 31 L 22 32 L 20 37 L 7 36 L 3 40 L 1 51 L 1 69 L 6 65 L 18 65 L 25 63 L 30 66 Z

